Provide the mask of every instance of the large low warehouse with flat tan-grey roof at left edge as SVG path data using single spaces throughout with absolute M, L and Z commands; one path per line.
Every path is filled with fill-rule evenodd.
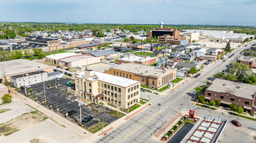
M 4 79 L 10 81 L 11 76 L 35 72 L 37 70 L 53 72 L 53 67 L 25 59 L 0 62 L 0 83 L 3 83 Z

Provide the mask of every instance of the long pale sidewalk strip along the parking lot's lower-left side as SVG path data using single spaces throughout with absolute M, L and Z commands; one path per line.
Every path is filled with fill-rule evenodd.
M 70 122 L 69 120 L 66 120 L 62 116 L 59 116 L 55 112 L 52 112 L 52 110 L 48 110 L 42 105 L 39 105 L 39 103 L 36 103 L 35 101 L 26 98 L 22 94 L 14 91 L 12 88 L 8 88 L 10 90 L 10 94 L 12 94 L 12 100 L 13 101 L 22 101 L 23 103 L 30 105 L 31 107 L 39 110 L 40 112 L 46 114 L 46 116 L 52 118 L 55 122 L 57 122 L 59 125 L 64 125 L 65 127 L 71 129 L 75 133 L 77 133 L 80 136 L 83 136 L 86 138 L 86 142 L 95 142 L 98 138 L 97 136 L 93 135 L 92 133 L 89 133 L 89 131 L 86 131 L 86 129 L 82 129 L 82 127 L 79 127 L 78 125 L 75 125 L 74 123 Z

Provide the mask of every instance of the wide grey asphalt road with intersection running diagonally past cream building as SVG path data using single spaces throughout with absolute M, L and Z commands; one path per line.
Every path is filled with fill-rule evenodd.
M 195 95 L 194 88 L 199 85 L 205 85 L 208 77 L 212 77 L 215 73 L 224 70 L 226 65 L 238 57 L 240 51 L 243 49 L 246 48 L 241 47 L 234 51 L 234 56 L 230 59 L 228 58 L 226 62 L 221 60 L 213 66 L 206 66 L 204 68 L 205 71 L 198 78 L 191 79 L 167 96 L 148 94 L 152 99 L 152 105 L 150 107 L 125 122 L 121 127 L 112 131 L 112 133 L 101 138 L 101 140 L 98 140 L 98 142 L 155 142 L 155 140 L 150 140 L 150 137 L 155 135 L 163 124 L 167 123 L 178 112 L 183 110 L 188 111 L 189 109 L 194 109 L 198 114 L 224 118 L 229 121 L 236 119 L 242 123 L 242 127 L 238 128 L 229 122 L 223 131 L 224 137 L 219 138 L 219 141 L 255 142 L 252 138 L 252 133 L 256 131 L 255 122 L 229 114 L 223 114 L 215 110 L 197 107 L 191 103 Z

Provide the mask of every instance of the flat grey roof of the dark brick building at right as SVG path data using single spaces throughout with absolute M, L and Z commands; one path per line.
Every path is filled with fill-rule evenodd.
M 253 95 L 256 92 L 256 85 L 215 79 L 206 90 L 229 93 L 241 98 L 253 99 Z

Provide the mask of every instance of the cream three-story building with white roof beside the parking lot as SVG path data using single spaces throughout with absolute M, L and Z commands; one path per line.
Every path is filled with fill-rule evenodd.
M 140 82 L 115 75 L 85 70 L 75 73 L 76 95 L 99 103 L 106 101 L 127 109 L 140 101 Z

